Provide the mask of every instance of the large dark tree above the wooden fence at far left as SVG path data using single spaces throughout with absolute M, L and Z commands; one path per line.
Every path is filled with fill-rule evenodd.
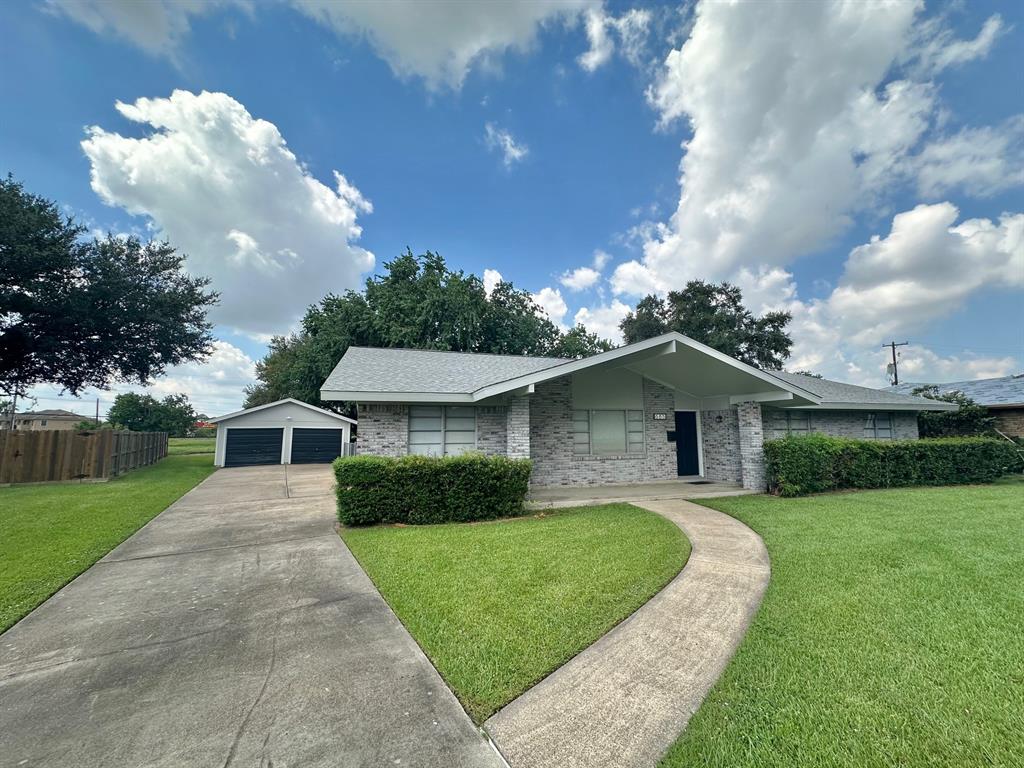
M 54 203 L 0 180 L 0 392 L 146 383 L 205 358 L 217 294 L 168 243 L 86 241 Z

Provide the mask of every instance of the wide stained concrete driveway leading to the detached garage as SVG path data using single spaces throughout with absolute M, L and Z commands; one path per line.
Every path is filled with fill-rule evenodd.
M 504 765 L 334 530 L 219 470 L 0 636 L 0 766 Z

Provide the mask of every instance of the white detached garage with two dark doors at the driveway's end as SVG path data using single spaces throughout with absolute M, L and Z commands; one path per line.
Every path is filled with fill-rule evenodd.
M 213 463 L 328 464 L 350 452 L 355 421 L 289 397 L 211 419 L 217 425 Z

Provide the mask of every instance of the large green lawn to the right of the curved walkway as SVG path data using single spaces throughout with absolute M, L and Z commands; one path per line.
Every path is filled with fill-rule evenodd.
M 662 768 L 1024 765 L 1024 483 L 702 503 L 772 578 Z

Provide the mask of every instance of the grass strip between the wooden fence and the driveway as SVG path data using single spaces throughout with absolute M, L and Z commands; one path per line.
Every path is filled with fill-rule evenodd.
M 0 487 L 0 632 L 212 471 L 172 456 L 110 482 Z

